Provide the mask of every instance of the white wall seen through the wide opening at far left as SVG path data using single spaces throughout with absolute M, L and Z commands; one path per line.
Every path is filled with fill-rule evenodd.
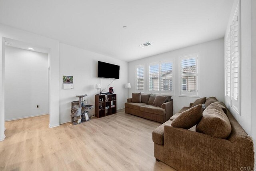
M 47 113 L 48 54 L 6 46 L 5 120 Z

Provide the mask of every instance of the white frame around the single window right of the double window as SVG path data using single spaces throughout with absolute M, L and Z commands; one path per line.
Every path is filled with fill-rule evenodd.
M 182 60 L 185 60 L 185 59 L 191 59 L 191 58 L 196 58 L 196 93 L 192 93 L 192 92 L 188 92 L 188 91 L 182 91 L 182 75 L 181 75 L 181 62 Z M 182 96 L 182 97 L 200 97 L 200 76 L 199 76 L 199 68 L 200 68 L 200 54 L 199 52 L 198 53 L 194 53 L 194 54 L 189 54 L 189 55 L 186 55 L 186 56 L 181 56 L 179 57 L 179 74 L 178 74 L 178 77 L 179 77 L 179 88 L 178 88 L 178 91 L 179 91 L 179 96 Z

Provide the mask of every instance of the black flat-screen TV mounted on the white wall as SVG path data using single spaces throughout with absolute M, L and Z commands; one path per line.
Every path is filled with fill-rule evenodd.
M 98 61 L 98 77 L 119 79 L 120 66 Z

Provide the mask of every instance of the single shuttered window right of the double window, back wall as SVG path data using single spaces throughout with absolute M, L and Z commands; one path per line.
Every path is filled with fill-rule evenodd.
M 199 54 L 180 58 L 179 95 L 199 97 L 198 93 L 198 60 Z

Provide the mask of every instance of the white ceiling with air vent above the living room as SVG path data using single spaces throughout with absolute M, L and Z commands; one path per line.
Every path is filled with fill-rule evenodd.
M 0 23 L 129 62 L 224 37 L 233 1 L 0 0 Z

